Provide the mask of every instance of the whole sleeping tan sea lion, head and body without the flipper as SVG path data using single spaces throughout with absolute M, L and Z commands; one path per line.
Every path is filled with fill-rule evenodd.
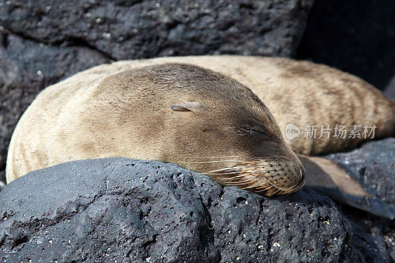
M 177 93 L 177 96 L 173 94 L 161 98 L 160 103 L 153 108 L 150 98 L 158 96 L 158 90 L 153 89 L 153 83 L 155 85 L 169 84 L 173 85 L 173 88 L 177 85 L 198 87 L 202 81 L 205 81 L 204 77 L 187 75 L 178 79 L 174 85 L 171 81 L 177 74 L 160 75 L 160 71 L 155 72 L 152 71 L 153 68 L 150 68 L 149 71 L 145 70 L 143 82 L 139 82 L 141 75 L 134 75 L 133 83 L 125 80 L 130 80 L 128 75 L 124 75 L 126 72 L 136 74 L 135 71 L 138 72 L 142 67 L 171 62 L 193 64 L 230 75 L 250 87 L 270 111 L 249 92 L 240 93 L 233 89 L 225 92 L 230 86 L 238 86 L 237 81 L 229 80 L 228 85 L 224 86 L 226 87 L 223 89 L 224 92 L 218 93 L 218 96 L 217 91 L 213 90 L 201 94 L 191 93 L 189 97 L 180 97 Z M 149 72 L 151 75 L 147 76 Z M 177 73 L 176 70 L 175 72 Z M 216 75 L 216 77 L 228 79 L 223 78 L 222 75 Z M 211 79 L 210 81 L 207 86 L 223 85 L 222 80 Z M 130 84 L 136 90 L 144 92 L 139 94 L 125 92 L 125 85 L 130 86 Z M 242 90 L 248 89 L 243 87 Z M 194 102 L 196 98 L 200 98 L 199 105 L 210 105 L 211 108 L 208 108 L 220 109 L 220 111 L 205 112 L 211 114 L 202 118 L 202 122 L 198 125 L 196 123 L 189 125 L 188 121 L 181 119 L 178 126 L 174 127 L 172 126 L 174 121 L 180 120 L 180 116 L 185 115 L 176 115 L 173 118 L 174 116 L 169 114 L 177 112 L 173 110 L 173 112 L 169 111 L 170 113 L 163 113 L 161 110 L 161 107 L 168 109 L 173 104 L 182 103 L 181 99 Z M 137 105 L 136 100 L 139 102 Z M 205 109 L 208 108 L 205 107 Z M 198 114 L 198 109 L 195 110 L 192 109 L 187 114 Z M 147 111 L 150 114 L 146 114 Z M 282 187 L 286 189 L 281 192 L 290 192 L 301 187 L 303 168 L 286 144 L 297 153 L 318 154 L 355 146 L 363 138 L 333 138 L 332 131 L 330 138 L 300 136 L 290 140 L 283 136 L 287 124 L 294 124 L 301 129 L 307 125 L 330 125 L 330 127 L 336 124 L 376 125 L 375 137 L 384 137 L 394 134 L 394 113 L 394 102 L 368 83 L 356 76 L 310 62 L 243 56 L 170 57 L 120 61 L 81 72 L 46 88 L 39 94 L 21 117 L 10 142 L 6 170 L 7 182 L 29 171 L 69 160 L 123 156 L 174 162 L 202 173 L 211 171 L 206 174 L 224 183 L 219 180 L 220 176 L 230 178 L 231 175 L 237 174 L 237 171 L 225 170 L 229 173 L 221 171 L 215 174 L 213 171 L 221 167 L 221 165 L 214 165 L 220 161 L 218 158 L 208 162 L 202 159 L 190 161 L 189 157 L 241 156 L 254 160 L 254 164 L 250 164 L 251 170 L 247 171 L 246 165 L 243 166 L 244 181 L 242 182 L 246 182 L 246 185 L 242 185 L 240 180 L 236 182 L 236 179 L 239 179 L 237 176 L 232 179 L 236 180 L 235 182 L 228 180 L 229 184 L 246 188 L 256 187 L 257 179 L 250 175 L 256 172 L 258 164 L 255 160 L 259 159 L 261 168 L 266 167 L 265 165 L 274 165 L 273 172 L 282 172 L 286 175 L 282 177 L 282 180 L 286 182 L 282 184 Z M 259 119 L 261 124 L 266 125 L 264 133 L 270 133 L 271 137 L 269 137 L 272 138 L 269 144 L 257 147 L 258 150 L 253 152 L 253 146 L 259 144 L 259 140 L 246 140 L 244 137 L 240 141 L 242 143 L 239 143 L 237 139 L 229 140 L 232 136 L 229 137 L 229 134 L 225 136 L 223 131 L 214 132 L 215 136 L 212 138 L 201 137 L 201 134 L 212 131 L 213 127 L 236 127 L 237 125 L 229 126 L 228 122 L 235 117 L 238 120 L 242 119 L 244 121 L 242 124 L 246 125 L 242 126 L 239 123 L 241 126 L 239 125 L 236 131 L 237 135 L 256 132 L 251 131 L 251 127 L 247 127 L 250 123 L 243 119 L 245 114 L 253 116 L 252 119 Z M 271 119 L 272 116 L 276 121 Z M 102 119 L 111 121 L 102 121 Z M 195 133 L 185 134 L 184 132 L 194 129 Z M 267 134 L 265 136 L 268 137 Z M 163 142 L 167 143 L 161 146 Z M 245 145 L 241 146 L 242 144 Z M 163 148 L 168 148 L 168 150 L 156 151 L 156 149 Z M 180 152 L 180 149 L 190 150 Z M 263 157 L 266 158 L 264 162 Z M 275 161 L 270 163 L 269 158 Z M 231 159 L 225 161 L 231 162 Z M 239 167 L 240 165 L 237 166 L 236 162 L 245 161 L 245 159 L 233 161 L 235 163 L 228 165 L 229 167 Z M 204 164 L 198 164 L 199 162 Z M 230 169 L 226 165 L 222 167 Z M 283 168 L 287 171 L 282 171 Z M 266 174 L 266 176 L 269 175 Z M 275 190 L 280 191 L 278 188 Z M 273 194 L 273 192 L 268 194 Z

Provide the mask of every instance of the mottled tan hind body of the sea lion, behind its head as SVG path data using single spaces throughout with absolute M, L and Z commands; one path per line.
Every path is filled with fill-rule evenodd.
M 365 140 L 362 136 L 365 125 L 376 126 L 374 138 L 395 134 L 394 101 L 359 77 L 308 61 L 232 55 L 163 57 L 104 64 L 79 74 L 80 77 L 90 73 L 111 74 L 170 62 L 211 69 L 249 87 L 275 116 L 285 142 L 296 153 L 317 155 L 355 147 Z M 297 126 L 300 135 L 288 139 L 287 124 Z M 349 138 L 349 133 L 346 138 L 338 138 L 336 125 L 348 130 L 357 125 L 361 130 L 355 138 Z M 316 136 L 304 135 L 309 126 L 316 127 Z M 328 127 L 321 136 L 320 129 Z

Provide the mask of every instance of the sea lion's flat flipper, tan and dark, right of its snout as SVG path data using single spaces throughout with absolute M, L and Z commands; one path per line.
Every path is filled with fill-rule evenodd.
M 395 218 L 395 209 L 379 199 L 373 191 L 362 187 L 350 171 L 333 160 L 298 155 L 306 170 L 306 186 L 341 203 L 377 216 Z

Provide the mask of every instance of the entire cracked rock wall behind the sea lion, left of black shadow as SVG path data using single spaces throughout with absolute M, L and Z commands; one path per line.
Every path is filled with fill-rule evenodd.
M 0 0 L 0 181 L 12 131 L 46 86 L 111 60 L 291 56 L 314 0 Z

